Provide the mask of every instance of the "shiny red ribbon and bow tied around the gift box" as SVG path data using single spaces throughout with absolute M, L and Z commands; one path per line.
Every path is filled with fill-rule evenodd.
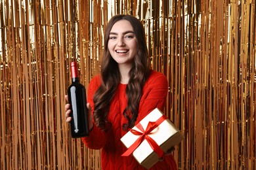
M 156 120 L 156 122 L 148 122 L 148 126 L 146 127 L 146 130 L 143 129 L 142 125 L 139 123 L 137 124 L 137 128 L 140 129 L 140 131 L 137 131 L 135 129 L 131 129 L 131 133 L 133 133 L 134 135 L 140 135 L 140 137 L 135 141 L 135 143 L 133 143 L 123 154 L 122 156 L 129 156 L 131 153 L 133 153 L 133 151 L 136 150 L 136 148 L 138 148 L 138 146 L 142 143 L 142 141 L 144 141 L 144 139 L 146 139 L 146 141 L 148 141 L 148 144 L 150 144 L 151 148 L 154 150 L 154 152 L 156 152 L 156 154 L 158 154 L 159 158 L 161 158 L 163 156 L 163 151 L 161 150 L 160 146 L 158 146 L 158 144 L 156 143 L 156 141 L 154 141 L 154 139 L 152 139 L 148 134 L 150 134 L 150 132 L 155 129 L 156 127 L 158 127 L 164 120 L 166 120 L 167 117 L 166 116 L 161 116 L 158 120 Z

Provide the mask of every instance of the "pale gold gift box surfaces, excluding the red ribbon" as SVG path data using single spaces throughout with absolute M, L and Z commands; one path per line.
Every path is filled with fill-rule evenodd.
M 152 112 L 150 112 L 150 114 L 140 121 L 140 124 L 142 125 L 143 129 L 146 129 L 148 122 L 156 122 L 156 120 L 158 120 L 161 116 L 163 116 L 162 112 L 159 109 L 154 109 Z M 140 131 L 140 129 L 136 126 L 132 129 Z M 169 150 L 172 146 L 179 144 L 184 139 L 181 131 L 179 131 L 179 129 L 175 127 L 175 125 L 169 119 L 163 120 L 163 122 L 158 127 L 153 129 L 148 136 L 156 141 L 164 153 L 166 153 L 167 150 Z M 135 141 L 137 141 L 139 137 L 140 135 L 134 135 L 131 131 L 128 131 L 121 138 L 121 142 L 125 144 L 127 148 L 129 148 L 133 143 L 135 143 Z M 133 156 L 140 163 L 140 165 L 146 169 L 152 167 L 160 159 L 158 154 L 154 152 L 146 140 L 142 141 L 142 143 L 140 143 L 140 145 L 133 151 Z

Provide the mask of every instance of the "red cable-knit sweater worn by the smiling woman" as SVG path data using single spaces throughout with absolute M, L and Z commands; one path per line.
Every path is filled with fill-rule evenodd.
M 100 76 L 95 76 L 88 87 L 87 100 L 94 110 L 93 95 L 100 86 Z M 123 110 L 127 106 L 127 97 L 125 94 L 126 84 L 119 84 L 114 99 L 110 103 L 110 112 L 108 122 L 112 124 L 107 131 L 101 131 L 94 125 L 89 137 L 82 138 L 89 148 L 101 150 L 102 169 L 144 169 L 133 155 L 121 156 L 127 148 L 121 143 L 120 139 L 127 133 L 122 130 L 123 123 L 127 120 L 123 116 Z M 142 89 L 142 97 L 139 105 L 139 116 L 137 124 L 151 110 L 158 107 L 162 110 L 165 106 L 168 84 L 167 78 L 162 73 L 152 71 L 148 80 Z M 165 156 L 163 161 L 158 161 L 151 169 L 177 169 L 177 165 L 172 155 Z

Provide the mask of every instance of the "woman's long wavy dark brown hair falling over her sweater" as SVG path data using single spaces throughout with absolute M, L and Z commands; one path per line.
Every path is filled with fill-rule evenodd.
M 144 86 L 150 71 L 148 49 L 146 46 L 143 25 L 137 18 L 131 15 L 120 14 L 113 16 L 108 22 L 108 25 L 106 25 L 104 35 L 105 47 L 104 56 L 101 63 L 102 83 L 100 84 L 98 90 L 96 90 L 93 98 L 95 103 L 93 118 L 96 126 L 102 129 L 106 128 L 106 117 L 110 109 L 110 103 L 121 80 L 119 69 L 117 69 L 118 65 L 108 50 L 110 31 L 112 26 L 119 20 L 127 20 L 131 23 L 137 40 L 137 54 L 135 54 L 133 67 L 129 71 L 130 78 L 125 90 L 127 95 L 127 107 L 125 110 L 123 110 L 123 116 L 125 116 L 125 118 L 128 120 L 127 124 L 123 124 L 123 129 L 125 130 L 135 125 L 135 121 L 137 120 L 138 116 L 140 98 L 142 95 L 142 87 Z

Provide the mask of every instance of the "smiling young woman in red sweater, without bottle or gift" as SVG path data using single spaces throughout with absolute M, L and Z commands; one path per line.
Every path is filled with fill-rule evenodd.
M 91 132 L 82 141 L 102 149 L 102 169 L 144 169 L 133 155 L 121 156 L 127 148 L 120 139 L 153 109 L 163 110 L 167 78 L 150 70 L 144 27 L 134 16 L 114 16 L 106 26 L 104 44 L 101 74 L 91 80 L 87 92 Z M 65 110 L 70 122 L 69 104 Z M 177 165 L 168 154 L 151 169 Z

